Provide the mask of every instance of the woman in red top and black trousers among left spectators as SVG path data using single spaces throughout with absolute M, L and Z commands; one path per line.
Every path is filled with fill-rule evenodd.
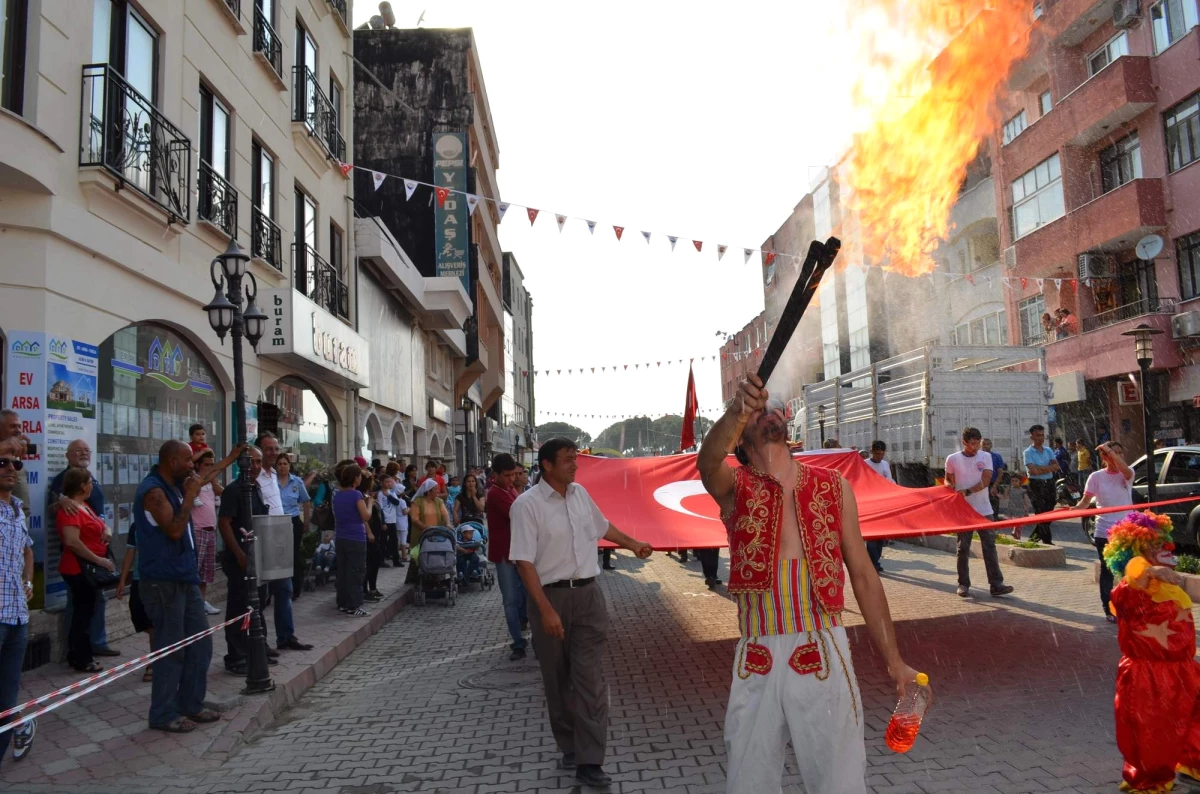
M 96 588 L 83 573 L 83 563 L 98 565 L 108 571 L 115 570 L 108 559 L 108 535 L 104 519 L 88 506 L 91 495 L 91 473 L 86 469 L 70 469 L 62 479 L 62 495 L 73 499 L 79 509 L 68 515 L 59 511 L 58 528 L 62 539 L 62 555 L 59 558 L 59 573 L 71 588 L 74 609 L 71 612 L 71 627 L 67 631 L 67 663 L 80 673 L 97 673 L 103 669 L 91 655 L 91 639 L 88 625 L 96 610 Z

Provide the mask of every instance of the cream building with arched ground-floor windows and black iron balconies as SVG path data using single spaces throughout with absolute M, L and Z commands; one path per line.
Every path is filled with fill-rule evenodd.
M 232 349 L 203 307 L 235 240 L 269 315 L 246 345 L 251 431 L 301 467 L 353 449 L 370 384 L 349 257 L 343 0 L 7 0 L 0 110 L 4 405 L 26 473 L 38 597 L 61 603 L 44 483 L 86 439 L 116 554 L 164 439 L 229 449 Z M 52 535 L 49 542 L 47 535 Z

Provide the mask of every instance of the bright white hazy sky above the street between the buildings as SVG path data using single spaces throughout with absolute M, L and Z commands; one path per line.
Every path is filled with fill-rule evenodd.
M 850 50 L 826 31 L 830 4 L 712 6 L 392 2 L 401 28 L 422 11 L 426 28 L 474 28 L 502 198 L 542 211 L 530 228 L 514 207 L 500 227 L 534 300 L 534 368 L 563 369 L 536 380 L 539 423 L 595 434 L 613 420 L 550 413 L 682 413 L 686 366 L 653 362 L 718 354 L 716 331 L 762 309 L 760 261 L 743 264 L 742 248 L 775 231 L 844 146 Z M 355 24 L 373 13 L 355 2 Z M 554 212 L 598 221 L 595 235 L 578 219 L 559 233 Z M 719 361 L 697 362 L 696 383 L 701 408 L 719 409 Z

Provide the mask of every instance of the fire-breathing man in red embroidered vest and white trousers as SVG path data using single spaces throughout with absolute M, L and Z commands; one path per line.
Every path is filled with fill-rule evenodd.
M 725 463 L 731 451 L 736 470 Z M 805 790 L 866 792 L 864 714 L 841 620 L 844 563 L 898 696 L 916 686 L 917 672 L 896 649 L 850 485 L 792 458 L 784 404 L 754 374 L 696 464 L 730 534 L 728 591 L 742 634 L 725 717 L 726 790 L 778 792 L 791 734 Z

